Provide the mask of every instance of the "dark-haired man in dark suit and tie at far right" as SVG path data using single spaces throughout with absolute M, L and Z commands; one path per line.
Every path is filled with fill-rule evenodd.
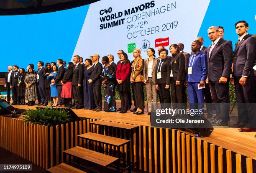
M 238 104 L 238 122 L 230 127 L 241 128 L 240 131 L 256 131 L 254 100 L 254 69 L 256 63 L 256 39 L 248 36 L 249 29 L 246 21 L 238 21 L 235 24 L 238 41 L 235 47 L 235 59 L 233 65 L 233 78 L 235 84 L 236 102 Z M 248 128 L 243 128 L 243 127 Z

